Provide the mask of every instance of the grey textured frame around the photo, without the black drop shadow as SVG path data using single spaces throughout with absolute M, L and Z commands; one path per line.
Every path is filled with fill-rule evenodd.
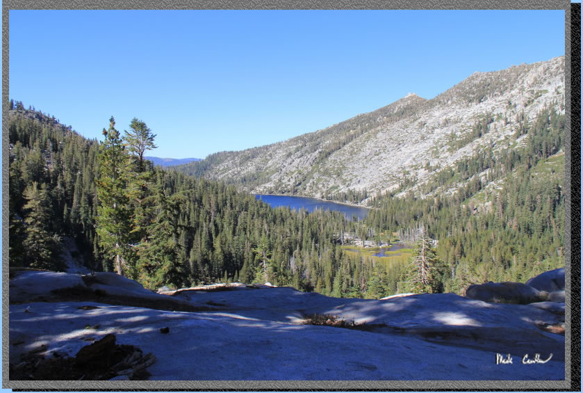
M 566 85 L 566 113 L 570 113 L 570 2 L 568 0 L 466 0 L 466 1 L 436 1 L 436 0 L 325 0 L 325 1 L 298 1 L 272 0 L 249 1 L 244 0 L 4 0 L 2 3 L 2 103 L 3 111 L 7 110 L 8 103 L 8 15 L 10 10 L 28 9 L 559 9 L 565 10 L 565 85 Z M 8 125 L 2 117 L 2 353 L 8 353 Z M 566 127 L 570 130 L 570 116 L 566 117 Z M 568 390 L 570 389 L 570 346 L 571 331 L 570 318 L 575 310 L 570 309 L 570 278 L 571 278 L 571 225 L 570 220 L 570 132 L 566 133 L 566 323 L 565 333 L 565 373 L 562 381 L 343 381 L 343 380 L 315 380 L 315 381 L 275 381 L 275 380 L 245 380 L 245 381 L 215 381 L 215 380 L 188 380 L 188 381 L 10 381 L 8 380 L 8 358 L 2 357 L 2 387 L 19 390 Z M 577 274 L 575 271 L 574 274 Z

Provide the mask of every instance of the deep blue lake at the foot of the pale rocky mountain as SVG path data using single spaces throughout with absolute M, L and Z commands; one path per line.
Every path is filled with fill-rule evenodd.
M 290 209 L 298 210 L 306 209 L 307 211 L 314 211 L 315 209 L 341 211 L 347 218 L 356 216 L 362 220 L 368 215 L 368 210 L 365 207 L 350 206 L 348 204 L 341 204 L 336 202 L 329 202 L 326 200 L 319 200 L 315 198 L 288 196 L 288 195 L 264 195 L 256 194 L 255 198 L 263 200 L 271 207 L 287 206 Z

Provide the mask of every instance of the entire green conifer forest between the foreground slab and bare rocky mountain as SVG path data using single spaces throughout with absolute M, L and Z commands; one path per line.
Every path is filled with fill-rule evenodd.
M 151 289 L 272 282 L 367 298 L 463 294 L 564 266 L 565 118 L 551 106 L 518 120 L 509 146 L 484 145 L 423 184 L 404 177 L 377 193 L 361 222 L 272 209 L 233 185 L 156 168 L 136 148 L 140 133 L 154 146 L 137 119 L 124 136 L 110 119 L 98 142 L 10 106 L 10 266 L 63 270 L 60 248 L 73 238 L 86 266 Z M 345 245 L 355 236 L 416 245 L 379 258 Z M 429 281 L 418 280 L 420 268 Z

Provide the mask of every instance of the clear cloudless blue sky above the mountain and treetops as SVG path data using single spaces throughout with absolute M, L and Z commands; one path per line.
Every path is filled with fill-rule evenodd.
M 10 98 L 197 157 L 284 141 L 473 72 L 564 55 L 561 10 L 10 10 Z

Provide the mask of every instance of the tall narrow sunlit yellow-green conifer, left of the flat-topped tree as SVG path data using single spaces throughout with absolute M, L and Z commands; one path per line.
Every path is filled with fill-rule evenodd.
M 105 140 L 99 151 L 99 179 L 97 179 L 97 235 L 104 256 L 115 259 L 117 274 L 123 275 L 123 265 L 131 262 L 130 238 L 132 214 L 127 184 L 131 168 L 115 120 L 110 118 L 109 129 L 104 129 Z

